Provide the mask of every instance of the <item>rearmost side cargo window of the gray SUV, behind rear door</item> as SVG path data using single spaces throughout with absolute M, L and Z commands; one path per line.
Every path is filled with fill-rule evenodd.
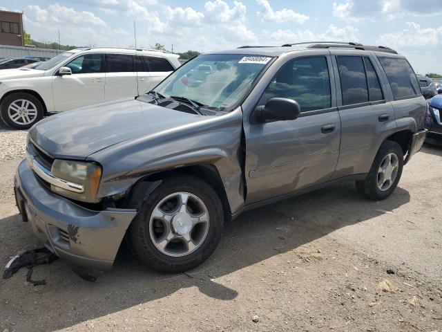
M 407 60 L 379 57 L 379 61 L 387 74 L 394 98 L 410 97 L 421 93 L 416 74 Z

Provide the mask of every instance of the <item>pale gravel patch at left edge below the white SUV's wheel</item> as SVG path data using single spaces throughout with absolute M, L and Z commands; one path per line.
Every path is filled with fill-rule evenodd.
M 12 130 L 0 120 L 0 160 L 23 158 L 27 130 Z

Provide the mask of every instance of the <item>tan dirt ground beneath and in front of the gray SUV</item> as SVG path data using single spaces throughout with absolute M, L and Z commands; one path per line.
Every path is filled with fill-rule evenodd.
M 247 212 L 188 274 L 155 273 L 126 246 L 95 284 L 61 260 L 35 268 L 46 286 L 21 270 L 0 279 L 0 332 L 442 332 L 441 157 L 425 146 L 382 202 L 344 183 Z M 40 246 L 15 208 L 18 163 L 0 161 L 0 266 Z M 394 293 L 376 290 L 383 279 Z

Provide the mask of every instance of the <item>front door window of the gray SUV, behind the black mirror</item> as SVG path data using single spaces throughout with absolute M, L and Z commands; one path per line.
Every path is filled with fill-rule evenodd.
M 289 98 L 298 102 L 301 112 L 332 107 L 330 77 L 325 57 L 302 57 L 280 68 L 259 102 Z

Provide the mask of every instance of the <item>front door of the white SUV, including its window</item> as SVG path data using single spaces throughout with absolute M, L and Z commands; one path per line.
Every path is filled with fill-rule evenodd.
M 52 76 L 54 111 L 104 102 L 104 55 L 79 55 L 65 65 L 72 75 Z

